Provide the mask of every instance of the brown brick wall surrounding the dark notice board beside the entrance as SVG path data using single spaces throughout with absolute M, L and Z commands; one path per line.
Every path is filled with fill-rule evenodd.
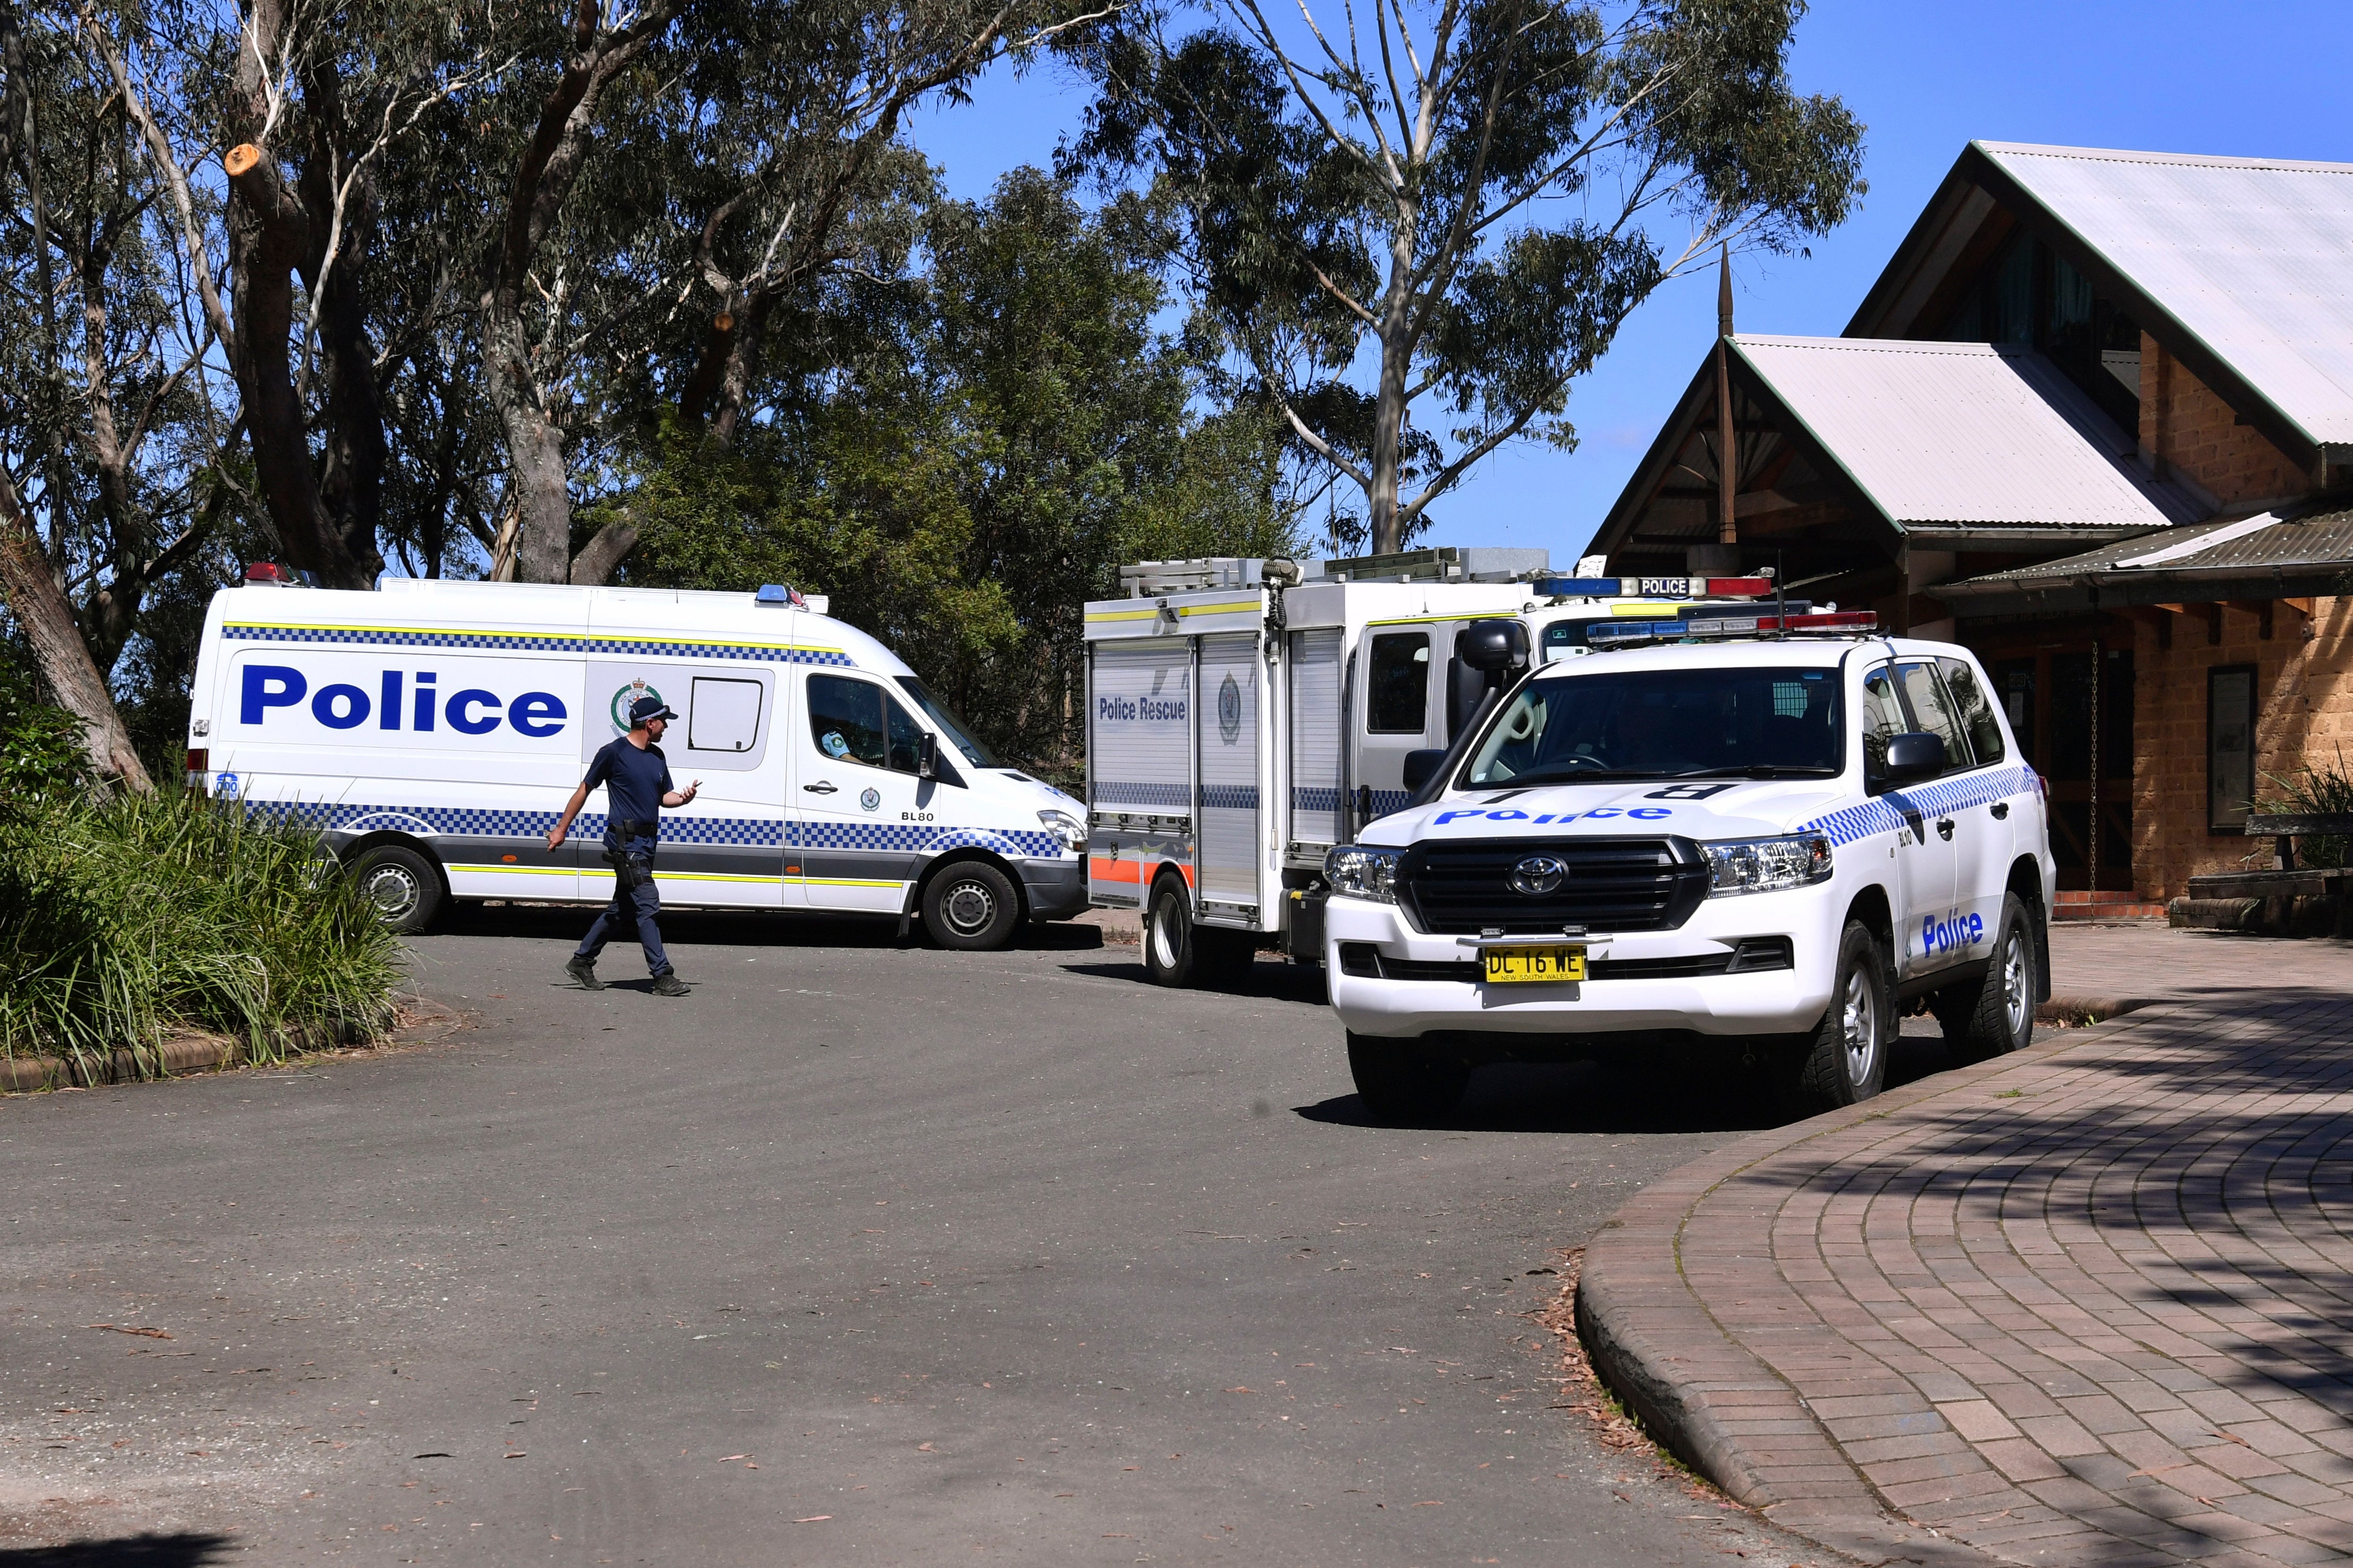
M 2179 367 L 2174 367 L 2179 374 Z M 2202 609 L 2202 607 L 2193 607 Z M 2207 644 L 2202 614 L 2174 616 L 2174 646 L 2158 651 L 2141 623 L 2132 665 L 2132 882 L 2141 898 L 2188 893 L 2202 872 L 2240 867 L 2249 849 L 2268 865 L 2271 844 L 2207 832 L 2207 670 L 2254 665 L 2257 799 L 2278 795 L 2261 773 L 2318 766 L 2353 769 L 2353 597 L 2313 599 L 2306 623 L 2280 602 L 2264 642 L 2252 611 L 2221 611 L 2221 644 Z M 2306 630 L 2311 635 L 2306 637 Z

